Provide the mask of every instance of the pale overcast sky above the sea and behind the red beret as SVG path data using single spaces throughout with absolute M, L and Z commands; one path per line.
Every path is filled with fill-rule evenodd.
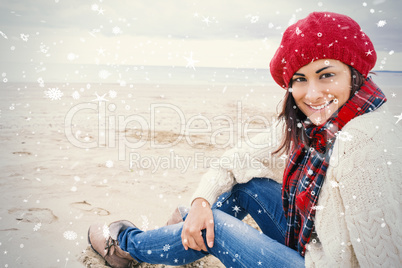
M 267 68 L 283 31 L 343 13 L 373 41 L 374 70 L 402 71 L 400 0 L 2 0 L 0 73 L 64 65 Z

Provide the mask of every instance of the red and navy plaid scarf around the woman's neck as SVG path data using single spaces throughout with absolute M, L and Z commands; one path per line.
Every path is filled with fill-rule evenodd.
M 363 86 L 325 124 L 304 125 L 309 146 L 298 144 L 283 176 L 282 201 L 287 220 L 285 243 L 304 256 L 314 231 L 318 196 L 324 183 L 332 147 L 341 129 L 353 118 L 372 112 L 386 101 L 376 84 L 367 78 Z

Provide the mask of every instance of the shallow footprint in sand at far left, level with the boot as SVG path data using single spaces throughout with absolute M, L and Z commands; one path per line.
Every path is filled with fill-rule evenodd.
M 58 219 L 48 208 L 12 208 L 8 210 L 8 213 L 15 215 L 15 219 L 22 222 L 52 223 Z

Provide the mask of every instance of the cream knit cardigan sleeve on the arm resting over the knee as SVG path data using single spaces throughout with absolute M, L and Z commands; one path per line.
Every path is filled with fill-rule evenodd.
M 277 148 L 282 125 L 259 133 L 241 145 L 226 151 L 210 165 L 192 196 L 205 198 L 212 205 L 218 196 L 229 191 L 236 183 L 246 183 L 254 177 L 270 177 L 279 180 L 283 174 L 285 159 L 271 153 Z

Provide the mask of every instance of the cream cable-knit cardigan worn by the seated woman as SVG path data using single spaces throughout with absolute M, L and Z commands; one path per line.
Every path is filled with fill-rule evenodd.
M 402 129 L 386 106 L 351 120 L 336 139 L 317 204 L 318 239 L 307 244 L 306 267 L 402 266 Z M 227 151 L 221 166 L 202 177 L 192 200 L 212 204 L 253 177 L 281 183 L 285 160 L 271 155 L 281 130 L 274 126 Z M 249 167 L 242 162 L 247 157 L 254 161 Z

